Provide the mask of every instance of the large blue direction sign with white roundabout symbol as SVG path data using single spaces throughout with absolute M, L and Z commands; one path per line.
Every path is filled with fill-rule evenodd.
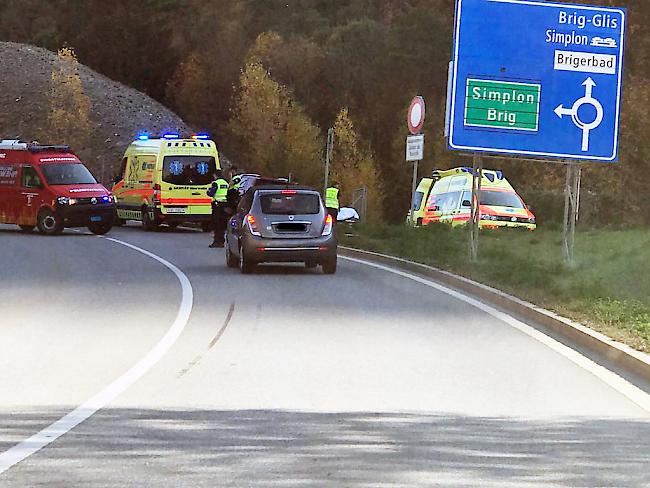
M 623 8 L 457 0 L 449 147 L 616 161 Z

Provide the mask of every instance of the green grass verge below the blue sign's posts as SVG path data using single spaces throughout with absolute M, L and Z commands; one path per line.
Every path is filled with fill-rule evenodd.
M 483 230 L 475 264 L 468 259 L 467 229 L 356 224 L 353 232 L 341 235 L 343 245 L 451 271 L 650 352 L 650 232 L 645 229 L 578 232 L 572 269 L 563 266 L 559 230 Z

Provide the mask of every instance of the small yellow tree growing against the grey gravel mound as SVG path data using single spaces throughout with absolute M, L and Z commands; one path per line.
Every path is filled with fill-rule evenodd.
M 84 92 L 79 63 L 72 48 L 59 49 L 48 99 L 46 133 L 49 142 L 65 143 L 84 151 L 91 136 L 91 102 Z

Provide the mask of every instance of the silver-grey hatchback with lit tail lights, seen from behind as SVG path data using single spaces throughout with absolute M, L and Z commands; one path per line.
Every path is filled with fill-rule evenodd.
M 320 194 L 294 185 L 261 185 L 242 197 L 226 230 L 226 264 L 252 273 L 260 263 L 303 262 L 336 273 L 334 221 Z

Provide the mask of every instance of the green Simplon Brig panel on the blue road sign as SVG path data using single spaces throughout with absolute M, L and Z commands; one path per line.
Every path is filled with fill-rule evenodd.
M 536 132 L 541 91 L 542 85 L 536 83 L 469 78 L 465 125 Z

